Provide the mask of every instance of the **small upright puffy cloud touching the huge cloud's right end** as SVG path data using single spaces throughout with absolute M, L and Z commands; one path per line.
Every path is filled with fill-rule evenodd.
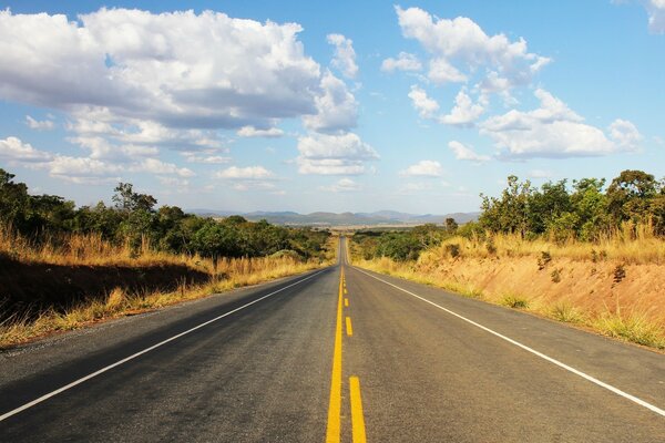
M 316 114 L 303 117 L 305 126 L 311 131 L 335 133 L 356 126 L 358 104 L 347 85 L 326 72 L 320 84 L 321 94 L 315 99 Z

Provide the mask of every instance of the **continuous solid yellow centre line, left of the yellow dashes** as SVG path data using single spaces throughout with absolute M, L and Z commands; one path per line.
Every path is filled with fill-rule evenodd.
M 328 426 L 326 443 L 339 443 L 341 430 L 341 299 L 344 267 L 339 274 L 339 298 L 337 301 L 337 322 L 335 326 L 335 350 L 332 352 L 332 374 L 330 377 L 330 403 L 328 404 Z

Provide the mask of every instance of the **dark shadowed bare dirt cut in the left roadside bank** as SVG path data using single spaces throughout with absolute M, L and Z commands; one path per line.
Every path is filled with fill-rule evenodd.
M 127 293 L 173 291 L 200 285 L 209 275 L 184 265 L 60 266 L 25 264 L 0 255 L 0 321 L 64 311 L 83 301 L 104 300 L 114 288 Z

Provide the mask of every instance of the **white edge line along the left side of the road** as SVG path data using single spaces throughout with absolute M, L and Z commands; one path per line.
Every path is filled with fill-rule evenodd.
M 294 282 L 294 284 L 290 284 L 290 285 L 288 285 L 288 286 L 285 286 L 284 288 L 277 289 L 277 290 L 276 290 L 276 291 L 274 291 L 274 292 L 267 293 L 267 295 L 265 295 L 265 296 L 263 296 L 263 297 L 260 297 L 260 298 L 257 298 L 257 299 L 256 299 L 256 300 L 254 300 L 254 301 L 250 301 L 250 302 L 248 302 L 248 303 L 246 303 L 246 305 L 243 305 L 243 306 L 241 306 L 239 308 L 236 308 L 236 309 L 234 309 L 234 310 L 231 310 L 231 311 L 228 311 L 228 312 L 226 312 L 226 313 L 223 313 L 222 316 L 215 317 L 215 318 L 214 318 L 214 319 L 212 319 L 212 320 L 208 320 L 208 321 L 205 321 L 205 322 L 203 322 L 203 323 L 201 323 L 201 324 L 198 324 L 198 326 L 195 326 L 195 327 L 194 327 L 194 328 L 192 328 L 192 329 L 187 329 L 186 331 L 184 331 L 184 332 L 181 332 L 181 333 L 178 333 L 178 334 L 176 334 L 176 336 L 173 336 L 173 337 L 171 337 L 171 338 L 168 338 L 168 339 L 166 339 L 166 340 L 164 340 L 164 341 L 160 341 L 158 343 L 156 343 L 156 344 L 153 344 L 153 346 L 151 346 L 150 348 L 145 348 L 144 350 L 142 350 L 142 351 L 139 351 L 139 352 L 136 352 L 136 353 L 133 353 L 133 354 L 131 354 L 130 357 L 125 357 L 124 359 L 122 359 L 122 360 L 119 360 L 119 361 L 116 361 L 115 363 L 109 364 L 108 367 L 104 367 L 104 368 L 102 368 L 102 369 L 100 369 L 100 370 L 98 370 L 98 371 L 94 371 L 94 372 L 93 372 L 93 373 L 91 373 L 91 374 L 88 374 L 88 375 L 85 375 L 85 377 L 83 377 L 83 378 L 81 378 L 81 379 L 79 379 L 79 380 L 75 380 L 75 381 L 73 381 L 73 382 L 71 382 L 71 383 L 69 383 L 69 384 L 65 384 L 64 387 L 62 387 L 62 388 L 59 388 L 59 389 L 57 389 L 55 391 L 49 392 L 48 394 L 44 394 L 44 395 L 42 395 L 42 396 L 40 396 L 40 398 L 38 398 L 38 399 L 34 399 L 34 400 L 32 400 L 31 402 L 23 404 L 22 406 L 19 406 L 19 408 L 17 408 L 17 409 L 14 409 L 14 410 L 11 410 L 11 411 L 9 411 L 9 412 L 6 412 L 4 414 L 0 415 L 0 422 L 1 422 L 1 421 L 3 421 L 3 420 L 6 420 L 6 419 L 9 419 L 9 418 L 10 418 L 10 416 L 12 416 L 12 415 L 16 415 L 16 414 L 18 414 L 19 412 L 25 411 L 27 409 L 29 409 L 29 408 L 32 408 L 32 406 L 34 406 L 35 404 L 39 404 L 39 403 L 41 403 L 41 402 L 43 402 L 43 401 L 45 401 L 45 400 L 49 400 L 50 398 L 52 398 L 52 396 L 55 396 L 55 395 L 58 395 L 59 393 L 66 391 L 68 389 L 71 389 L 71 388 L 73 388 L 73 387 L 75 387 L 75 385 L 78 385 L 78 384 L 81 384 L 81 383 L 83 383 L 83 382 L 85 382 L 85 381 L 88 381 L 88 380 L 90 380 L 90 379 L 92 379 L 92 378 L 94 378 L 94 377 L 98 377 L 99 374 L 102 374 L 102 373 L 104 373 L 104 372 L 106 372 L 106 371 L 109 371 L 109 370 L 111 370 L 111 369 L 113 369 L 113 368 L 115 368 L 115 367 L 119 367 L 119 365 L 121 365 L 121 364 L 123 364 L 123 363 L 126 363 L 126 362 L 127 362 L 127 361 L 130 361 L 130 360 L 134 360 L 136 357 L 143 356 L 144 353 L 147 353 L 147 352 L 150 352 L 150 351 L 152 351 L 152 350 L 154 350 L 154 349 L 156 349 L 156 348 L 160 348 L 160 347 L 162 347 L 162 346 L 164 346 L 164 344 L 166 344 L 166 343 L 168 343 L 168 342 L 171 342 L 171 341 L 173 341 L 173 340 L 176 340 L 176 339 L 178 339 L 178 338 L 181 338 L 181 337 L 183 337 L 183 336 L 186 336 L 186 334 L 188 334 L 188 333 L 191 333 L 191 332 L 194 332 L 195 330 L 197 330 L 197 329 L 201 329 L 201 328 L 203 328 L 204 326 L 207 326 L 207 324 L 209 324 L 209 323 L 212 323 L 212 322 L 214 322 L 214 321 L 217 321 L 217 320 L 219 320 L 219 319 L 223 319 L 224 317 L 231 316 L 232 313 L 234 313 L 234 312 L 237 312 L 237 311 L 239 311 L 241 309 L 245 309 L 245 308 L 247 308 L 248 306 L 252 306 L 252 305 L 254 305 L 254 303 L 257 303 L 257 302 L 259 302 L 259 301 L 262 301 L 262 300 L 264 300 L 264 299 L 266 299 L 266 298 L 268 298 L 268 297 L 272 297 L 272 296 L 274 296 L 274 295 L 276 295 L 276 293 L 278 293 L 278 292 L 282 292 L 282 291 L 283 291 L 283 290 L 285 290 L 285 289 L 288 289 L 288 288 L 290 288 L 290 287 L 293 287 L 293 286 L 299 285 L 299 284 L 301 284 L 301 282 L 303 282 L 303 281 L 305 281 L 305 280 L 309 280 L 310 278 L 314 278 L 314 277 L 318 276 L 319 274 L 321 274 L 321 272 L 323 272 L 323 271 L 325 271 L 325 270 L 326 270 L 326 269 L 321 269 L 321 270 L 319 270 L 318 272 L 315 272 L 315 274 L 313 274 L 313 275 L 310 275 L 310 276 L 308 276 L 308 277 L 306 277 L 306 278 L 304 278 L 304 279 L 301 279 L 301 280 L 298 280 L 298 281 L 296 281 L 296 282 Z

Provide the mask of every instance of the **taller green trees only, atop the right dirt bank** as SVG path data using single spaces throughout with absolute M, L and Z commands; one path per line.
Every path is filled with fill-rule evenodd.
M 478 224 L 470 228 L 526 239 L 595 241 L 640 225 L 664 236 L 665 179 L 624 171 L 606 189 L 605 181 L 597 178 L 573 181 L 572 186 L 563 179 L 536 188 L 510 176 L 501 197 L 482 196 L 481 208 Z

